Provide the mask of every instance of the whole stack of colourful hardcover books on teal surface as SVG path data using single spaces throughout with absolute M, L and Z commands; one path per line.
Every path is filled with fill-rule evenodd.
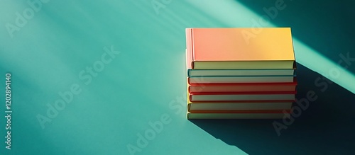
M 187 118 L 263 119 L 291 113 L 290 28 L 187 28 Z

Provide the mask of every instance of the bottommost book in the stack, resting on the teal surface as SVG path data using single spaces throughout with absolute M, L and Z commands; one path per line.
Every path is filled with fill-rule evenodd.
M 285 112 L 285 113 L 284 113 Z M 289 111 L 245 111 L 234 113 L 220 113 L 211 111 L 210 113 L 187 113 L 187 119 L 282 119 L 290 117 Z

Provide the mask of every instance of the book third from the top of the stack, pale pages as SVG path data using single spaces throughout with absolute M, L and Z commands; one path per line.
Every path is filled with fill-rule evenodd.
M 188 84 L 285 83 L 294 76 L 200 76 L 187 78 Z

